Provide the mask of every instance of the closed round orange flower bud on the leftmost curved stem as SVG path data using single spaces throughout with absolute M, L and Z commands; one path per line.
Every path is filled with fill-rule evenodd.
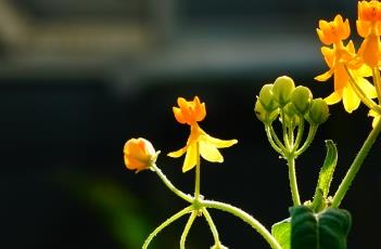
M 149 169 L 156 161 L 158 154 L 150 141 L 142 137 L 128 140 L 123 153 L 127 169 L 137 172 Z

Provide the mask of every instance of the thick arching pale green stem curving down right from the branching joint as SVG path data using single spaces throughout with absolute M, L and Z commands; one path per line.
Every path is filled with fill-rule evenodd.
M 240 218 L 249 225 L 251 225 L 256 232 L 258 232 L 272 249 L 281 249 L 281 246 L 277 241 L 277 239 L 270 234 L 270 232 L 268 232 L 263 224 L 261 224 L 257 220 L 255 220 L 252 215 L 244 212 L 243 210 L 236 208 L 234 206 L 214 200 L 201 200 L 201 204 L 205 208 L 219 209 Z

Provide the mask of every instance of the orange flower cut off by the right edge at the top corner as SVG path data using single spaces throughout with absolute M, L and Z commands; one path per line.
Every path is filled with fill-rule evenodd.
M 365 38 L 358 56 L 370 67 L 378 67 L 381 57 L 381 3 L 379 1 L 360 1 L 357 5 L 357 32 Z

